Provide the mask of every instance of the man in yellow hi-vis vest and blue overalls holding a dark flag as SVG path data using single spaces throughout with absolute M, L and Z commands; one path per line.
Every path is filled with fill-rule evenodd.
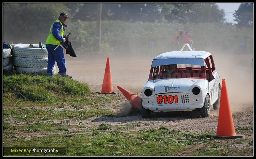
M 57 47 L 61 42 L 65 42 L 65 24 L 68 20 L 67 13 L 60 13 L 60 16 L 55 20 L 50 28 L 49 35 L 46 39 L 46 49 L 48 51 L 48 61 L 47 61 L 47 76 L 52 76 L 52 69 L 54 67 L 55 61 L 57 62 L 59 68 L 59 74 L 64 77 L 72 78 L 66 74 L 67 69 L 65 66 L 65 56 L 63 53 L 63 48 L 61 46 Z M 67 39 L 70 36 L 67 37 Z M 57 47 L 57 48 L 56 48 Z M 56 49 L 55 49 L 56 48 Z M 55 50 L 54 50 L 55 49 Z

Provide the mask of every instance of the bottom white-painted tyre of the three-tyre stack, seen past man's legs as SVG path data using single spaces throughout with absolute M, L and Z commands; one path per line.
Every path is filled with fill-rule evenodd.
M 25 68 L 25 67 L 17 67 L 17 66 L 15 66 L 14 70 L 15 70 L 16 73 L 25 73 L 25 74 L 36 73 L 38 75 L 46 75 L 47 68 L 44 68 L 44 69 L 38 69 L 38 68 L 34 69 L 34 68 Z M 55 66 L 53 67 L 52 72 L 53 72 L 53 74 L 57 74 L 57 69 L 56 69 Z

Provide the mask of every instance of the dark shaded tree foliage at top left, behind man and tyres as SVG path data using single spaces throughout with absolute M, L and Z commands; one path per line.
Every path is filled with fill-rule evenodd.
M 4 37 L 14 36 L 19 40 L 44 36 L 44 40 L 63 11 L 69 13 L 70 9 L 64 4 L 3 4 Z

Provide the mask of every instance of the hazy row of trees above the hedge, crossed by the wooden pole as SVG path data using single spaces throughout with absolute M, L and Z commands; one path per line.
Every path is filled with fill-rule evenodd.
M 74 19 L 96 20 L 96 5 L 84 4 L 74 10 Z M 71 4 L 68 5 L 69 7 Z M 225 22 L 224 10 L 217 4 L 200 3 L 140 3 L 140 4 L 102 4 L 102 20 L 121 20 L 126 22 L 173 22 L 204 23 Z

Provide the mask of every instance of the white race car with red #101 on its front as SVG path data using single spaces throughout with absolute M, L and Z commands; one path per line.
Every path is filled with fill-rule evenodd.
M 192 111 L 200 109 L 208 117 L 213 105 L 219 109 L 220 76 L 212 54 L 205 51 L 166 52 L 156 56 L 148 82 L 142 90 L 143 118 L 153 112 Z

